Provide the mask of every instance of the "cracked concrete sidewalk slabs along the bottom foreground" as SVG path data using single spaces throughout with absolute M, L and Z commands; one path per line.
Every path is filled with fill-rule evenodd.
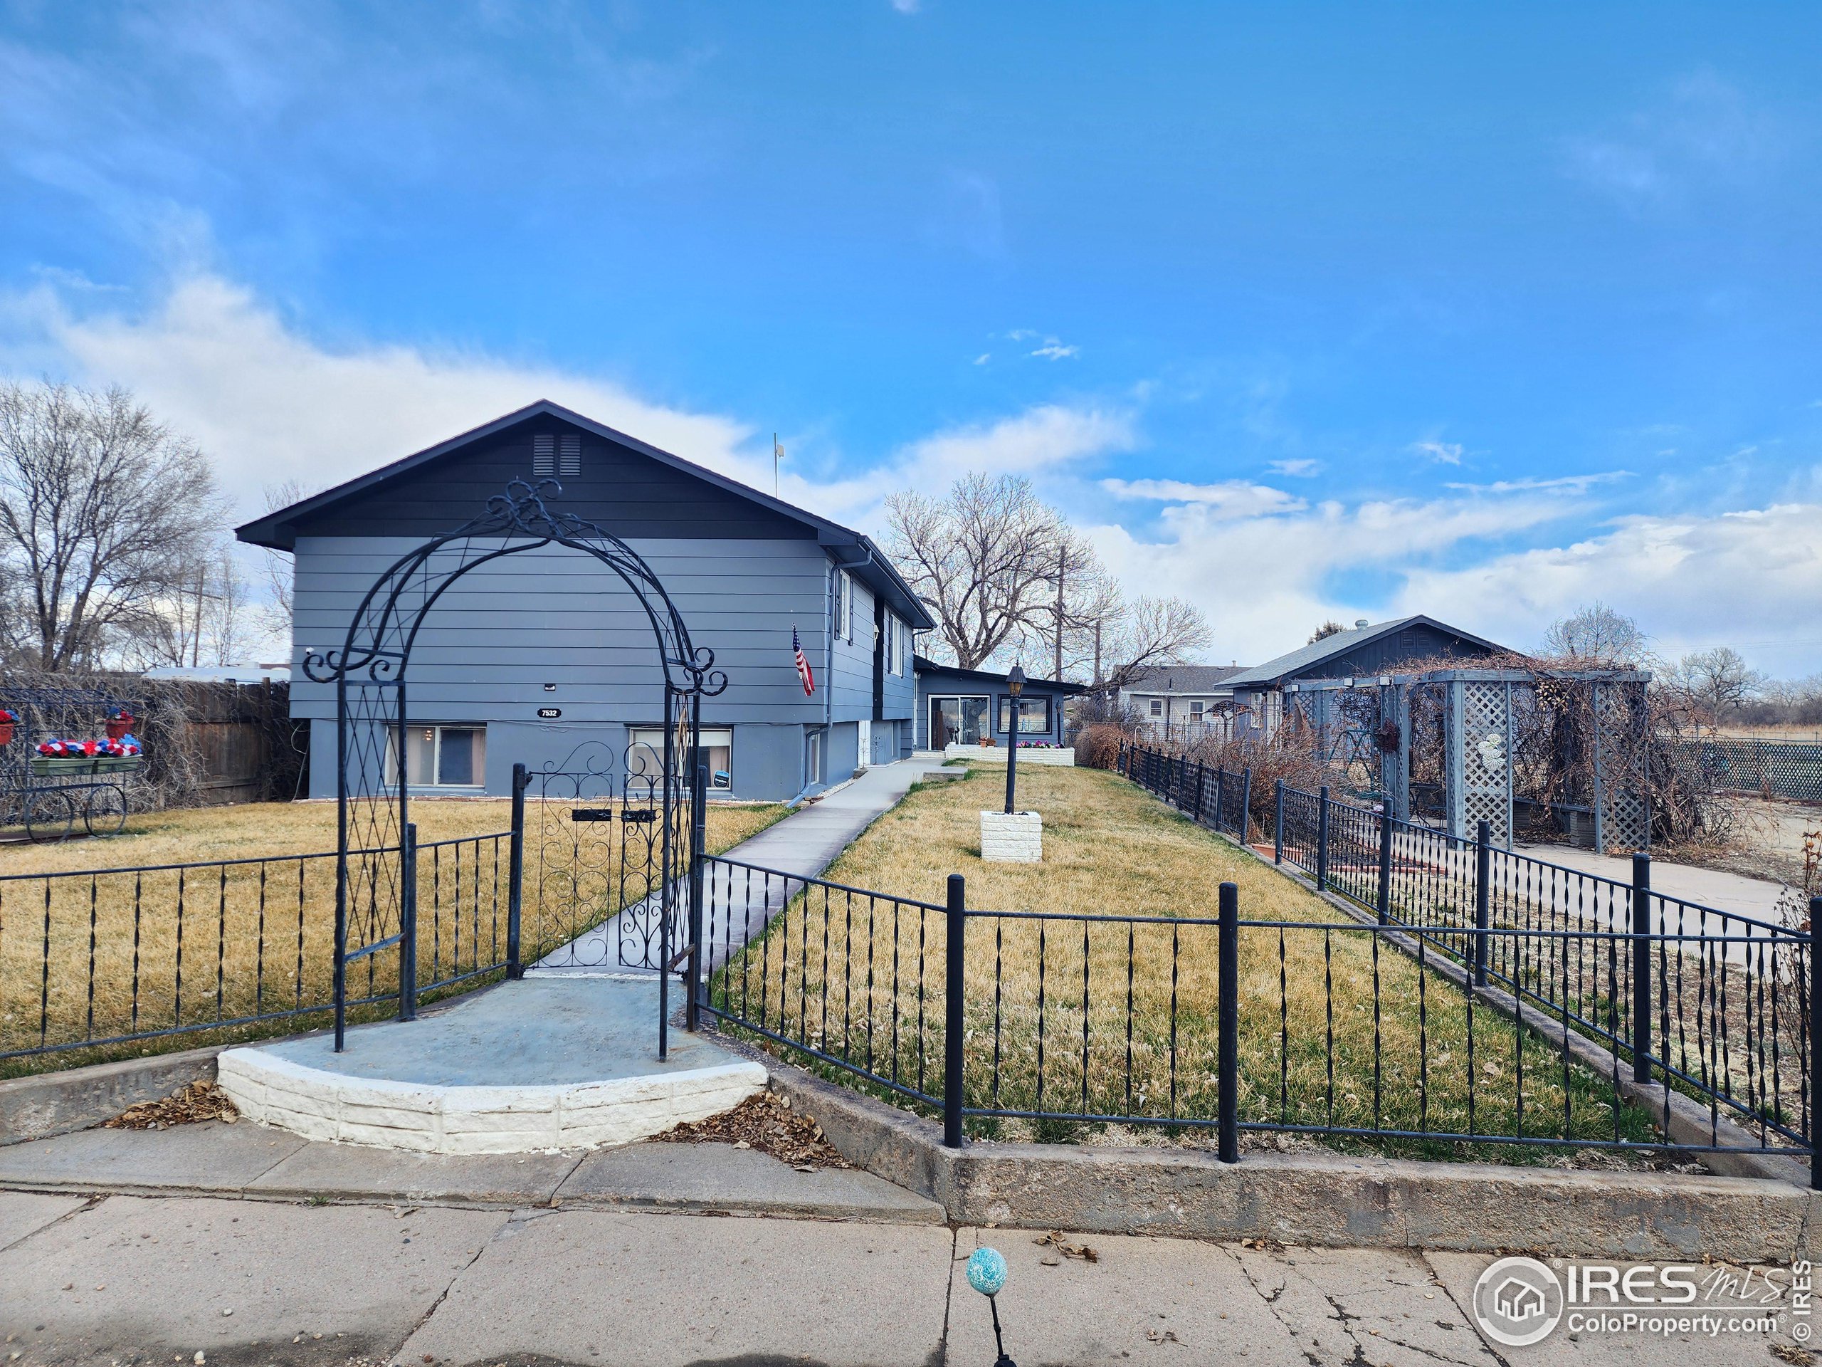
M 1755 1367 L 1764 1332 L 1571 1334 L 1496 1349 L 1483 1254 L 1241 1247 L 629 1210 L 0 1192 L 0 1360 L 49 1363 L 822 1363 L 986 1367 L 966 1281 L 1009 1263 L 1026 1363 Z M 1800 1362 L 1787 1356 L 1786 1362 Z

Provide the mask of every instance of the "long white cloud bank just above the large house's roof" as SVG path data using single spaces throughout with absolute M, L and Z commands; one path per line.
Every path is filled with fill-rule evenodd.
M 754 425 L 650 403 L 607 379 L 456 348 L 326 346 L 215 275 L 179 281 L 144 313 L 87 299 L 78 308 L 71 297 L 51 284 L 0 297 L 0 372 L 131 388 L 202 445 L 241 516 L 262 509 L 268 485 L 328 488 L 536 399 L 773 487 L 771 443 Z M 869 527 L 891 488 L 942 487 L 967 470 L 1037 476 L 1137 441 L 1122 408 L 1037 405 L 935 432 L 836 478 L 785 470 L 780 492 Z

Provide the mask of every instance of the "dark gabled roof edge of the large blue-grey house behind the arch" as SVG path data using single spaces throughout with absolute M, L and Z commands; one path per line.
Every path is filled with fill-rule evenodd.
M 448 441 L 439 441 L 434 447 L 425 447 L 423 450 L 406 456 L 404 459 L 392 461 L 392 465 L 381 465 L 377 470 L 368 470 L 363 476 L 348 479 L 346 483 L 335 485 L 321 494 L 301 499 L 288 509 L 279 509 L 277 512 L 268 512 L 264 518 L 255 518 L 253 521 L 237 527 L 235 538 L 250 545 L 264 545 L 275 550 L 290 550 L 297 540 L 297 523 L 328 512 L 350 499 L 368 494 L 381 485 L 386 485 L 401 476 L 412 474 L 445 456 L 470 447 L 476 441 L 485 441 L 486 437 L 497 436 L 507 428 L 517 427 L 530 417 L 559 417 L 565 423 L 572 423 L 585 432 L 592 432 L 603 441 L 612 441 L 627 450 L 634 450 L 640 456 L 647 456 L 660 465 L 669 465 L 672 470 L 681 470 L 683 474 L 694 476 L 716 488 L 736 494 L 749 499 L 762 509 L 793 518 L 794 521 L 811 527 L 816 532 L 816 543 L 829 547 L 831 552 L 840 549 L 858 550 L 858 556 L 834 554 L 838 565 L 860 578 L 869 589 L 882 594 L 898 616 L 906 618 L 918 631 L 929 631 L 937 625 L 935 618 L 929 616 L 929 609 L 918 601 L 918 596 L 911 592 L 911 585 L 904 581 L 904 576 L 893 569 L 893 563 L 885 554 L 862 532 L 849 527 L 842 527 L 836 521 L 829 521 L 822 514 L 811 512 L 809 509 L 800 509 L 794 503 L 785 503 L 780 498 L 763 494 L 751 485 L 743 485 L 738 479 L 729 479 L 725 474 L 716 474 L 714 470 L 696 465 L 694 461 L 685 461 L 681 456 L 672 456 L 669 450 L 660 450 L 647 441 L 627 436 L 605 423 L 598 423 L 592 417 L 585 417 L 572 408 L 565 408 L 550 399 L 539 399 L 537 403 L 527 405 L 505 417 L 496 417 L 492 423 L 483 423 L 477 428 L 463 432 L 461 436 L 450 437 Z

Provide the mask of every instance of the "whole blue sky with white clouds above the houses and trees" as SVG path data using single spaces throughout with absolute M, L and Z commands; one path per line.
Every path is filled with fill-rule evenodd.
M 1592 11 L 1592 13 L 1591 13 Z M 876 527 L 1029 474 L 1210 658 L 1603 598 L 1822 669 L 1813 5 L 0 0 L 0 370 L 257 510 L 539 396 Z

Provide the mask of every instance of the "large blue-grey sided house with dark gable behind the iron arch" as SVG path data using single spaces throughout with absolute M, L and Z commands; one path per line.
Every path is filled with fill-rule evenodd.
M 556 478 L 552 510 L 643 556 L 727 691 L 701 704 L 716 797 L 791 798 L 913 747 L 911 632 L 931 622 L 860 532 L 539 401 L 241 527 L 295 556 L 292 714 L 312 729 L 310 791 L 333 797 L 335 685 L 301 669 L 341 649 L 372 583 L 512 479 Z M 796 629 L 816 691 L 798 682 Z M 594 558 L 543 547 L 443 594 L 410 662 L 414 791 L 507 793 L 512 766 L 598 740 L 658 738 L 663 684 L 645 612 Z

